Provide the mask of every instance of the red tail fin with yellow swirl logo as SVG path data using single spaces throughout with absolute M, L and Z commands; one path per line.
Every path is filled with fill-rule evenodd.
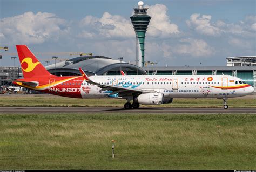
M 24 78 L 51 75 L 26 45 L 16 45 Z

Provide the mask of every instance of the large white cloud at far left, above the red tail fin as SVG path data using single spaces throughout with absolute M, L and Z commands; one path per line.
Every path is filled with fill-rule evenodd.
M 5 37 L 3 42 L 14 44 L 38 44 L 49 39 L 57 40 L 69 29 L 64 19 L 47 12 L 25 12 L 22 15 L 6 17 L 1 19 L 0 26 L 0 35 Z

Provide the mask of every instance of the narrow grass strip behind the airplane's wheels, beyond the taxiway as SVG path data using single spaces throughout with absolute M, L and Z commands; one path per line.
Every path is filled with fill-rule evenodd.
M 256 96 L 255 96 L 256 97 Z M 256 107 L 256 98 L 228 99 L 229 107 Z M 0 106 L 65 106 L 65 107 L 123 107 L 125 100 L 120 99 L 74 99 L 55 95 L 24 95 L 0 97 Z M 220 99 L 173 99 L 172 104 L 141 105 L 141 107 L 223 107 Z

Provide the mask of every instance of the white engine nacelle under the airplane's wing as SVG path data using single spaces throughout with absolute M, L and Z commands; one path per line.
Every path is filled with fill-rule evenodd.
M 134 102 L 144 105 L 158 105 L 163 104 L 164 94 L 163 93 L 145 93 L 140 94 L 137 98 L 134 98 Z

